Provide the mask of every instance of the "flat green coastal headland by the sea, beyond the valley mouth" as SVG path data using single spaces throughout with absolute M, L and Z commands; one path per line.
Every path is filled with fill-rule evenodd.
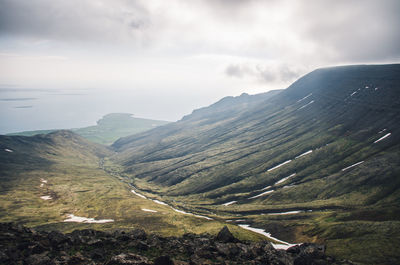
M 150 130 L 167 123 L 169 122 L 135 118 L 129 113 L 110 113 L 98 120 L 94 126 L 71 130 L 95 143 L 110 145 L 118 138 Z M 54 131 L 57 130 L 26 131 L 9 135 L 33 136 Z

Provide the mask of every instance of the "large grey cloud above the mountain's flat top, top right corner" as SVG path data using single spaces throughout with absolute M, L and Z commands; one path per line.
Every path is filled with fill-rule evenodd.
M 400 1 L 326 0 L 298 5 L 295 30 L 323 60 L 400 59 Z

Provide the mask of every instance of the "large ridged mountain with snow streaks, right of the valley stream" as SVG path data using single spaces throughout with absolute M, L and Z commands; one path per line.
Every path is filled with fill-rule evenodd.
M 400 65 L 318 69 L 247 97 L 119 139 L 112 161 L 187 209 L 358 262 L 400 260 Z

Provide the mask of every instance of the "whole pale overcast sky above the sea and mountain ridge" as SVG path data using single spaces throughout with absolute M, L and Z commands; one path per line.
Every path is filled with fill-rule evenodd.
M 398 0 L 0 0 L 0 91 L 112 95 L 107 111 L 173 121 L 315 68 L 398 63 L 399 14 Z

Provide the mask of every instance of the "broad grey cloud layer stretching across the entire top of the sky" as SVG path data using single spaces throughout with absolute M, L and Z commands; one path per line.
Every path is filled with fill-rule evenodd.
M 399 12 L 398 0 L 0 0 L 0 36 L 321 65 L 399 59 Z

